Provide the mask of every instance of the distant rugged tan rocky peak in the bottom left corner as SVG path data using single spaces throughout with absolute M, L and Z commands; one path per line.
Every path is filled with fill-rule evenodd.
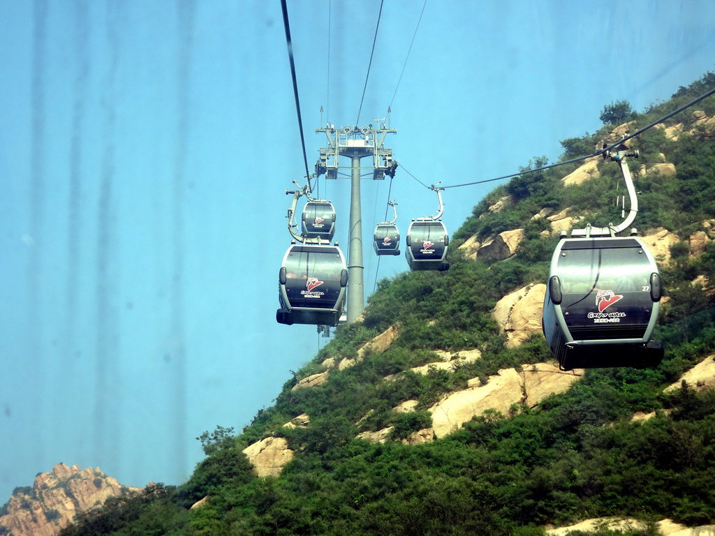
M 102 471 L 64 463 L 35 477 L 31 488 L 16 490 L 0 516 L 0 535 L 54 536 L 89 508 L 102 505 L 108 497 L 125 495 L 140 488 L 122 486 Z

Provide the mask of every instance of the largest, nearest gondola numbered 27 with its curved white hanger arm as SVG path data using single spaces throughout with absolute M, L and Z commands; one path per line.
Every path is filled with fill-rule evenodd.
M 624 151 L 621 164 L 631 212 L 618 227 L 574 229 L 553 253 L 542 328 L 563 370 L 655 367 L 663 344 L 651 340 L 662 287 L 658 265 L 636 236 L 617 237 L 635 219 L 638 201 Z M 633 231 L 632 234 L 635 234 Z

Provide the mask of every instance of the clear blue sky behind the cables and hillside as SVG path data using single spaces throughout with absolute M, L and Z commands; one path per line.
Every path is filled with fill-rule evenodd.
M 387 0 L 365 86 L 380 2 L 288 1 L 310 167 L 321 106 L 336 126 L 391 106 L 406 229 L 438 207 L 404 169 L 450 185 L 554 162 L 605 104 L 714 69 L 709 0 L 578 4 Z M 178 484 L 194 437 L 248 425 L 324 344 L 275 322 L 305 175 L 280 1 L 2 7 L 0 502 L 58 462 Z M 319 184 L 347 244 L 350 185 Z M 450 232 L 493 186 L 444 192 Z M 389 180 L 362 187 L 369 238 Z M 405 269 L 378 273 L 365 242 L 368 292 Z

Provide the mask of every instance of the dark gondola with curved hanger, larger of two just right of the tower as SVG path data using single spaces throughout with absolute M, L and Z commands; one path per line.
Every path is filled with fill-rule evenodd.
M 441 188 L 432 187 L 440 201 L 440 209 L 434 217 L 413 220 L 407 231 L 405 257 L 411 270 L 448 270 L 447 247 L 449 235 L 445 224 L 440 221 L 444 204 Z

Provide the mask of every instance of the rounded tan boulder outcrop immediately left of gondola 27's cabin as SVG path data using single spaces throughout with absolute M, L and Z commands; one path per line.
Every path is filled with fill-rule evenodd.
M 541 314 L 546 284 L 528 284 L 500 299 L 492 317 L 507 337 L 507 346 L 515 347 L 531 335 L 541 333 Z

